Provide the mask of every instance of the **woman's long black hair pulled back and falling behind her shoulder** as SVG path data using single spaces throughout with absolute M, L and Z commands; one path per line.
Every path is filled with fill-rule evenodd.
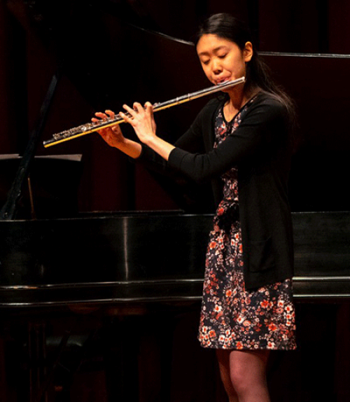
M 294 139 L 296 125 L 295 104 L 286 92 L 272 80 L 269 68 L 265 62 L 261 60 L 261 57 L 255 50 L 252 34 L 248 25 L 227 13 L 214 14 L 200 25 L 195 36 L 195 46 L 197 46 L 197 43 L 200 41 L 202 36 L 207 34 L 228 39 L 229 41 L 236 43 L 242 51 L 247 42 L 252 43 L 253 56 L 246 64 L 246 83 L 244 89 L 246 90 L 246 93 L 260 89 L 264 92 L 268 92 L 276 99 L 279 99 L 279 101 L 286 106 L 290 123 L 289 127 L 291 130 L 290 135 Z

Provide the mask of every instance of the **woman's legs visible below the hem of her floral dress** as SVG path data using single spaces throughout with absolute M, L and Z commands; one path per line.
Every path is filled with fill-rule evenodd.
M 270 402 L 266 382 L 268 354 L 265 350 L 218 350 L 221 378 L 230 402 Z

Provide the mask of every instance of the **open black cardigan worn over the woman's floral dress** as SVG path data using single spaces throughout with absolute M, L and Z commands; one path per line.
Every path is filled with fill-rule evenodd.
M 213 148 L 214 117 L 221 106 L 222 99 L 204 106 L 176 141 L 168 162 L 146 146 L 139 160 L 158 170 L 179 171 L 197 182 L 210 179 L 216 204 L 222 198 L 221 174 L 237 166 L 244 281 L 246 289 L 255 289 L 293 276 L 286 108 L 261 93 L 246 109 L 234 134 Z

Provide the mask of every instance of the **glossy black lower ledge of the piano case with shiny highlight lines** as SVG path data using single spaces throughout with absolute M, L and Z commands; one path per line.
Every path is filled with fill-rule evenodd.
M 202 300 L 203 279 L 94 282 L 0 286 L 0 309 L 62 305 L 125 305 L 196 303 Z M 62 298 L 62 293 L 66 295 Z M 293 277 L 295 301 L 350 301 L 350 277 Z M 94 297 L 91 297 L 92 294 Z

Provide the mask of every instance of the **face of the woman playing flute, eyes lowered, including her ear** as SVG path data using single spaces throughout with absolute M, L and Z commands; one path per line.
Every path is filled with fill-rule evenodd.
M 246 62 L 251 60 L 253 49 L 251 42 L 241 50 L 235 42 L 205 34 L 197 43 L 197 55 L 209 81 L 217 85 L 245 76 Z

